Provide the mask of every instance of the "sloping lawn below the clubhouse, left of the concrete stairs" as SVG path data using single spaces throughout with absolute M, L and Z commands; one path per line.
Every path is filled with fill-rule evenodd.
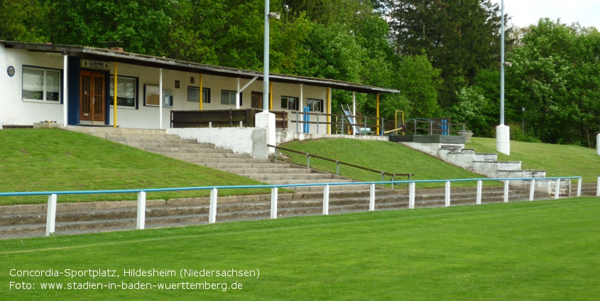
M 65 130 L 0 130 L 0 192 L 256 185 L 258 181 Z M 268 193 L 270 190 L 263 190 Z M 219 195 L 256 194 L 224 190 Z M 207 196 L 209 191 L 151 193 L 148 198 Z M 136 194 L 61 195 L 59 202 L 136 200 Z M 0 205 L 47 203 L 47 196 L 2 197 Z

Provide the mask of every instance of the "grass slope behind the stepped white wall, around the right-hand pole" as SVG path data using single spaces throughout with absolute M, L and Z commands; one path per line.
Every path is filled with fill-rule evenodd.
M 511 155 L 496 152 L 493 138 L 471 138 L 464 145 L 476 152 L 496 153 L 499 161 L 523 161 L 523 169 L 541 169 L 546 176 L 582 176 L 585 183 L 598 181 L 600 156 L 596 149 L 574 145 L 511 141 Z

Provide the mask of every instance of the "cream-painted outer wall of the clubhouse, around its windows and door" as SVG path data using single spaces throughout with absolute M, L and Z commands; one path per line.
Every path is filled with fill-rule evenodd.
M 71 58 L 69 69 L 75 69 L 70 71 L 71 73 L 78 73 L 79 67 L 75 68 L 72 64 L 79 62 L 79 59 Z M 4 125 L 32 125 L 33 123 L 41 120 L 55 120 L 58 123 L 64 123 L 63 118 L 63 102 L 61 103 L 41 103 L 36 101 L 23 101 L 22 86 L 23 86 L 23 65 L 31 67 L 43 67 L 51 69 L 59 69 L 62 72 L 63 68 L 63 57 L 60 55 L 48 55 L 45 52 L 29 52 L 27 50 L 16 50 L 6 49 L 4 45 L 0 44 L 0 68 L 4 70 L 0 75 L 0 90 L 3 91 L 3 95 L 0 97 L 0 106 L 3 108 L 0 113 L 0 124 Z M 16 74 L 12 77 L 8 76 L 6 69 L 9 66 L 13 66 L 16 69 Z M 114 75 L 115 64 L 111 62 L 111 69 L 109 74 Z M 151 84 L 156 85 L 160 83 L 160 70 L 152 67 L 141 67 L 131 64 L 117 65 L 118 76 L 133 77 L 137 80 L 137 106 L 136 108 L 126 108 L 119 106 L 116 110 L 116 124 L 120 127 L 136 127 L 136 128 L 158 128 L 159 127 L 159 108 L 157 106 L 146 106 L 144 97 L 144 85 Z M 75 74 L 74 73 L 74 74 Z M 70 82 L 78 81 L 78 75 L 69 74 Z M 62 77 L 62 73 L 61 73 Z M 191 78 L 194 78 L 192 83 Z M 229 90 L 236 91 L 238 82 L 236 78 L 229 78 L 223 76 L 212 76 L 204 74 L 202 76 L 203 87 L 210 89 L 210 103 L 202 103 L 203 110 L 217 110 L 217 109 L 229 109 L 236 108 L 233 105 L 222 105 L 221 104 L 221 91 Z M 107 78 L 107 86 L 110 85 L 110 79 Z M 179 81 L 179 88 L 175 88 L 175 81 Z M 240 79 L 239 86 L 242 87 L 248 83 L 248 79 Z M 73 83 L 78 86 L 79 83 Z M 173 92 L 173 107 L 163 107 L 162 123 L 163 128 L 170 127 L 170 111 L 171 110 L 199 110 L 200 104 L 197 102 L 187 101 L 187 88 L 188 86 L 198 87 L 199 86 L 199 74 L 190 72 L 178 72 L 168 69 L 163 69 L 163 90 Z M 298 84 L 280 84 L 273 83 L 273 110 L 282 110 L 281 108 L 281 97 L 292 96 L 300 98 L 301 86 Z M 78 120 L 74 120 L 79 116 L 79 95 L 73 93 L 78 91 L 78 87 L 70 85 L 70 101 L 77 102 L 70 103 L 70 124 L 77 124 Z M 108 90 L 108 88 L 107 88 Z M 250 84 L 241 94 L 241 106 L 240 108 L 251 107 L 251 93 L 258 92 L 262 94 L 263 82 L 254 81 Z M 75 94 L 75 95 L 71 95 Z M 64 91 L 62 91 L 62 78 L 61 78 L 61 97 L 64 98 Z M 109 97 L 109 94 L 107 95 Z M 306 105 L 307 98 L 322 99 L 324 106 L 327 101 L 327 89 L 317 86 L 302 85 L 302 106 Z M 108 125 L 114 125 L 114 108 L 112 106 L 113 100 L 107 99 L 107 115 Z M 77 110 L 77 112 L 75 112 Z M 300 107 L 300 110 L 302 108 Z M 296 110 L 289 110 L 288 128 L 291 131 L 296 130 L 296 123 L 291 120 L 296 118 Z M 324 110 L 324 113 L 326 111 Z M 311 121 L 315 121 L 316 116 L 310 116 Z M 322 116 L 320 121 L 325 122 L 326 117 Z M 300 127 L 301 128 L 301 127 Z M 326 125 L 320 125 L 320 133 L 325 133 L 327 130 Z M 310 132 L 317 132 L 317 125 L 310 125 Z

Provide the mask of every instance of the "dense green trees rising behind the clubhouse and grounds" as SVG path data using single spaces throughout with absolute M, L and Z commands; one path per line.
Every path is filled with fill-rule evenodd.
M 107 47 L 261 71 L 263 0 L 2 0 L 0 39 Z M 271 72 L 398 89 L 381 115 L 452 117 L 493 137 L 500 25 L 491 0 L 271 0 Z M 510 20 L 506 16 L 506 22 Z M 506 121 L 513 139 L 594 147 L 600 35 L 560 21 L 508 28 Z M 333 108 L 351 94 L 334 91 Z M 357 95 L 374 115 L 371 95 Z M 523 108 L 525 110 L 523 110 Z M 524 122 L 524 124 L 523 124 Z

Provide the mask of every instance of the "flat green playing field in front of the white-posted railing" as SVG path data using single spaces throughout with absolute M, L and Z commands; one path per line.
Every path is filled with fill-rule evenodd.
M 0 240 L 2 300 L 598 300 L 600 198 Z M 258 277 L 126 276 L 254 271 Z M 115 270 L 115 276 L 11 276 Z M 31 290 L 11 289 L 30 283 Z M 239 290 L 43 290 L 41 283 Z M 26 284 L 25 284 L 26 285 Z

